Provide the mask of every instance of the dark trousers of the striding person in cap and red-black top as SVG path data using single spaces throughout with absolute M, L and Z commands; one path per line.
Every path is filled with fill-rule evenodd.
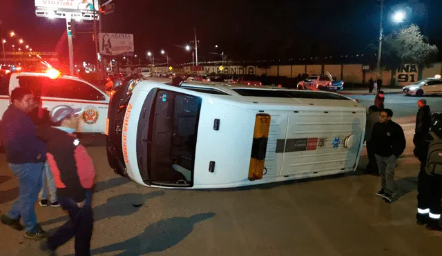
M 90 238 L 94 224 L 92 213 L 92 193 L 86 192 L 86 205 L 79 208 L 72 198 L 59 197 L 61 207 L 68 211 L 69 220 L 48 237 L 48 248 L 55 250 L 75 237 L 75 255 L 90 255 Z

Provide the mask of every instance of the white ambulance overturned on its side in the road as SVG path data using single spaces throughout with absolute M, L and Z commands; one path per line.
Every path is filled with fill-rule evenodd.
M 107 157 L 142 186 L 230 188 L 356 169 L 365 108 L 333 92 L 127 79 L 111 93 Z

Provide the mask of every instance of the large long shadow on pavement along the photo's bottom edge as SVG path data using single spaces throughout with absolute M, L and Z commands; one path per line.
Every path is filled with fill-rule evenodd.
M 189 235 L 195 224 L 205 219 L 210 219 L 215 213 L 200 213 L 191 217 L 173 217 L 163 219 L 148 226 L 143 233 L 127 239 L 124 242 L 111 244 L 90 250 L 92 255 L 100 253 L 113 253 L 123 250 L 122 253 L 113 255 L 144 255 L 146 253 L 162 252 L 175 246 Z

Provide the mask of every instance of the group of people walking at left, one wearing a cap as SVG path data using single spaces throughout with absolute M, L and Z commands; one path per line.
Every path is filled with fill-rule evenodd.
M 19 197 L 10 211 L 1 215 L 1 222 L 15 230 L 26 229 L 24 237 L 28 239 L 42 240 L 39 248 L 48 255 L 56 255 L 56 249 L 72 237 L 75 254 L 90 255 L 95 168 L 73 134 L 83 110 L 57 106 L 48 112 L 41 108 L 39 97 L 22 87 L 12 90 L 10 101 L 1 119 L 0 135 L 10 170 L 19 181 Z M 37 222 L 38 197 L 40 206 L 61 206 L 70 217 L 52 235 Z

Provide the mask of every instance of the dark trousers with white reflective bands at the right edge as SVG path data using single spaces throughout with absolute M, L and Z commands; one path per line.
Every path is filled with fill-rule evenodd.
M 417 193 L 418 216 L 420 214 L 438 219 L 435 215 L 441 215 L 442 213 L 442 176 L 428 175 L 425 172 L 425 161 L 421 163 Z

